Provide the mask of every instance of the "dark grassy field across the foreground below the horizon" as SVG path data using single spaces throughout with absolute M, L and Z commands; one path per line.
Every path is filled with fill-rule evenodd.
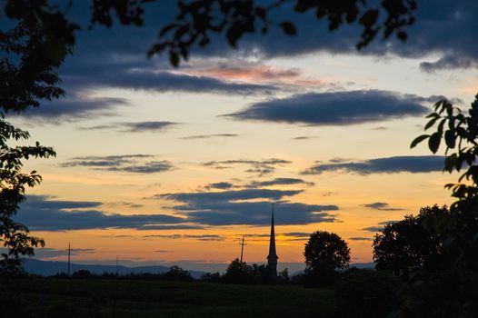
M 283 285 L 34 278 L 12 282 L 8 295 L 4 290 L 0 296 L 10 310 L 16 308 L 15 317 L 298 318 L 334 313 L 333 291 Z

